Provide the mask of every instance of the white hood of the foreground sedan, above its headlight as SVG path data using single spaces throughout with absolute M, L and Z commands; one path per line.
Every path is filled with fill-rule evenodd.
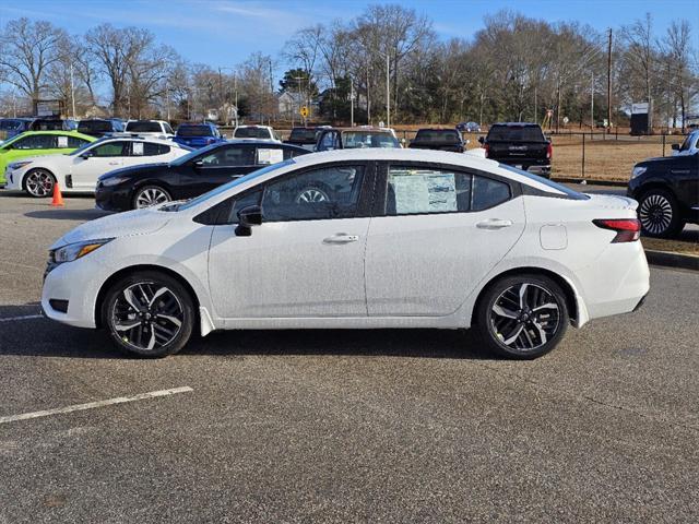
M 133 210 L 105 216 L 68 231 L 50 249 L 58 249 L 67 243 L 82 242 L 84 240 L 150 235 L 165 227 L 171 218 L 171 213 L 156 211 L 155 209 Z

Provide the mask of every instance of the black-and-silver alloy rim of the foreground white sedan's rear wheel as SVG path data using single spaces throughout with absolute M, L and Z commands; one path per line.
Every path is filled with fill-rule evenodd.
M 558 300 L 548 289 L 532 283 L 508 287 L 493 303 L 490 329 L 507 347 L 530 352 L 550 341 L 560 324 Z

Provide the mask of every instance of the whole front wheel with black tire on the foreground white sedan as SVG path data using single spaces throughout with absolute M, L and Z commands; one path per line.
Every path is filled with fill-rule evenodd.
M 191 337 L 194 303 L 171 276 L 133 273 L 115 283 L 102 305 L 102 325 L 119 349 L 141 357 L 179 352 Z

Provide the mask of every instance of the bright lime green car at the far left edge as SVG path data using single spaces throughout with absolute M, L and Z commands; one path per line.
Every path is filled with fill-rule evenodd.
M 70 153 L 94 136 L 75 131 L 26 131 L 0 144 L 0 186 L 7 183 L 4 171 L 13 163 L 31 156 Z

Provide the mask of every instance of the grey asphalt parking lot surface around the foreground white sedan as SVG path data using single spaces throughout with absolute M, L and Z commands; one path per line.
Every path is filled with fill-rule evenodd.
M 102 215 L 66 202 L 0 192 L 0 523 L 699 520 L 696 273 L 653 269 L 638 312 L 535 361 L 431 330 L 140 360 L 37 317 L 48 246 Z

